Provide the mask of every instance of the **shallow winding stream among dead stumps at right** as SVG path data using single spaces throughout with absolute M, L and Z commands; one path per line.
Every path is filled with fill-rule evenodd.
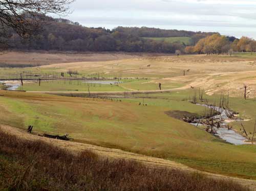
M 227 112 L 230 112 L 228 110 L 225 110 L 225 109 L 217 107 L 217 106 L 208 106 L 208 105 L 205 105 L 205 104 L 197 104 L 197 105 L 201 105 L 201 106 L 208 107 L 208 108 L 215 107 L 214 109 L 216 111 L 218 111 L 220 114 L 215 115 L 214 118 L 217 119 L 217 120 L 220 120 L 222 125 L 228 125 L 227 120 L 231 120 L 226 114 Z M 203 124 L 191 123 L 191 125 L 194 125 L 194 126 L 200 125 L 200 126 L 202 126 Z M 220 128 L 214 127 L 214 130 L 216 132 L 216 133 L 214 133 L 214 135 L 220 137 L 221 139 L 223 139 L 223 140 L 225 140 L 225 141 L 227 141 L 227 142 L 229 142 L 233 145 L 248 144 L 248 142 L 246 142 L 248 139 L 245 138 L 244 136 L 240 135 L 239 133 L 237 133 L 234 130 L 228 130 L 227 128 L 222 128 L 222 127 L 220 127 Z

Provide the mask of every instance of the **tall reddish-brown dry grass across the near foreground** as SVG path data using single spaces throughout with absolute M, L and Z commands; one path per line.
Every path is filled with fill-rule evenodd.
M 231 182 L 134 161 L 78 154 L 0 129 L 0 190 L 249 190 Z

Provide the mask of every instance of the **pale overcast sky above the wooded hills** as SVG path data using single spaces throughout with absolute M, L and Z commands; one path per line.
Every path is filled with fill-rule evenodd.
M 155 27 L 256 39 L 256 0 L 76 0 L 67 19 L 87 27 Z

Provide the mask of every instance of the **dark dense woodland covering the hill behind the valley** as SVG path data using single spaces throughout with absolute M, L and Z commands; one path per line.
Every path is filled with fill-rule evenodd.
M 11 47 L 19 50 L 57 51 L 124 51 L 175 53 L 185 49 L 182 42 L 167 42 L 142 37 L 191 37 L 195 45 L 200 39 L 215 34 L 155 28 L 117 27 L 113 30 L 88 28 L 67 19 L 47 17 L 43 30 L 28 38 L 14 32 L 8 39 Z

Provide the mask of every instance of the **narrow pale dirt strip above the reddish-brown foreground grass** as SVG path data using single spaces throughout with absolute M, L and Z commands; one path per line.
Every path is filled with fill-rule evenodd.
M 22 129 L 18 129 L 18 128 L 6 126 L 6 125 L 0 125 L 0 129 L 9 134 L 16 135 L 19 138 L 23 138 L 23 139 L 27 139 L 27 140 L 42 140 L 42 141 L 48 142 L 49 144 L 55 145 L 57 147 L 60 147 L 63 149 L 68 149 L 73 153 L 83 151 L 83 150 L 91 150 L 101 157 L 108 157 L 110 159 L 135 160 L 135 161 L 141 162 L 145 165 L 149 165 L 149 166 L 153 166 L 153 167 L 164 167 L 164 168 L 181 170 L 181 171 L 185 171 L 185 172 L 199 172 L 199 173 L 203 173 L 211 178 L 236 181 L 242 185 L 248 186 L 249 188 L 251 188 L 251 190 L 256 190 L 256 181 L 255 180 L 233 178 L 233 177 L 227 177 L 227 176 L 222 176 L 222 175 L 201 172 L 201 171 L 197 171 L 195 169 L 191 169 L 188 166 L 178 163 L 178 162 L 175 162 L 175 161 L 139 155 L 139 154 L 135 154 L 135 153 L 125 152 L 125 151 L 122 151 L 119 149 L 109 149 L 109 148 L 98 147 L 98 146 L 89 145 L 89 144 L 82 144 L 79 142 L 49 139 L 49 138 L 29 134 Z

